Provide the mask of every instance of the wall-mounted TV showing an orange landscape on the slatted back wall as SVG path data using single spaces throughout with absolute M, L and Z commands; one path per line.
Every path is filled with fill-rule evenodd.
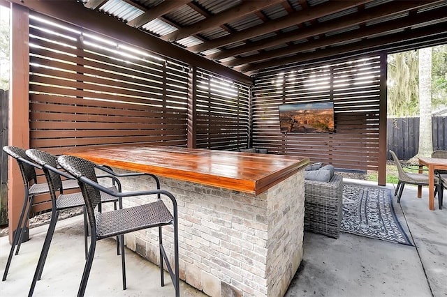
M 334 103 L 314 102 L 279 105 L 281 132 L 334 132 Z

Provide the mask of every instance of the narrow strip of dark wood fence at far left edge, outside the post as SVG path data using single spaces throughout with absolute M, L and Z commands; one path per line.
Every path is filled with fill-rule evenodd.
M 8 145 L 8 91 L 0 89 L 0 144 Z M 0 225 L 8 223 L 8 155 L 0 153 Z

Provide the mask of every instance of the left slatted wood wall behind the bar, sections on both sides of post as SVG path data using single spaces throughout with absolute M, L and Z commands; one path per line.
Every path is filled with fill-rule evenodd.
M 31 147 L 58 154 L 74 146 L 187 145 L 188 65 L 36 14 L 30 15 L 30 64 Z M 249 88 L 225 82 L 228 95 L 219 90 L 223 79 L 198 73 L 193 91 L 208 106 L 198 109 L 198 146 L 247 146 Z M 243 116 L 231 112 L 224 119 L 221 111 L 235 105 L 243 105 Z

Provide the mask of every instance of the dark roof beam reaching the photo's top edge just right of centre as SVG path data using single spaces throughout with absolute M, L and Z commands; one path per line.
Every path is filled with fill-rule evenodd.
M 220 26 L 221 24 L 226 24 L 252 13 L 256 13 L 258 10 L 268 8 L 283 1 L 284 0 L 244 1 L 238 6 L 223 11 L 223 13 L 207 17 L 205 20 L 196 22 L 196 24 L 192 24 L 191 26 L 186 26 L 175 32 L 166 34 L 165 36 L 162 36 L 161 39 L 174 42 L 187 36 L 200 33 L 201 31 Z

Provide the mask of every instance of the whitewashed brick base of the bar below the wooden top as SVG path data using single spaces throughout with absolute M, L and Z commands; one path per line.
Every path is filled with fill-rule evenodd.
M 160 181 L 177 199 L 182 280 L 209 296 L 284 296 L 302 259 L 302 171 L 257 196 L 170 178 Z M 155 188 L 148 176 L 122 182 L 123 191 Z M 123 203 L 129 207 L 145 201 L 150 198 Z M 163 201 L 172 209 L 169 199 Z M 125 241 L 159 263 L 156 228 L 127 234 Z M 163 245 L 172 255 L 172 227 L 163 227 Z

